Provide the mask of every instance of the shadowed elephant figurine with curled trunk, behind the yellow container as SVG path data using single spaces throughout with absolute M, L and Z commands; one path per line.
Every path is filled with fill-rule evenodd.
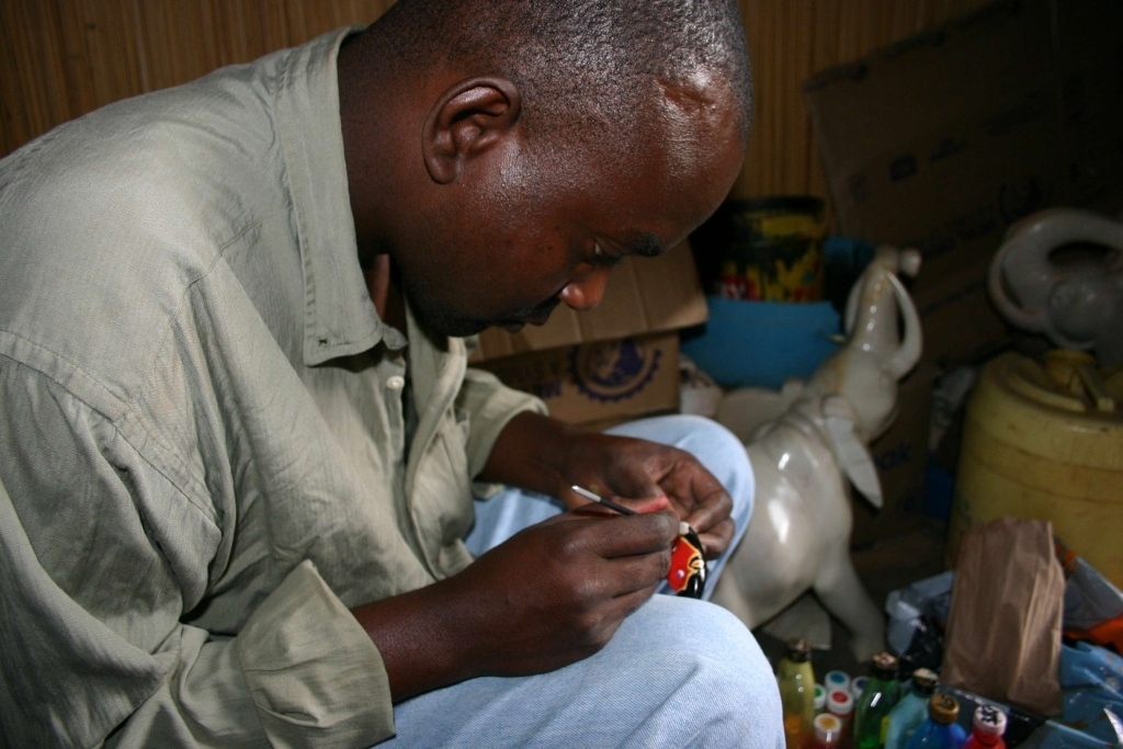
M 1123 363 L 1123 220 L 1076 208 L 1028 216 L 1006 231 L 987 286 L 1011 325 L 1094 350 L 1099 366 Z

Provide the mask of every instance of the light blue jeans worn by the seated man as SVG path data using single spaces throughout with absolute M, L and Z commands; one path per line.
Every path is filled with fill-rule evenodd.
M 740 541 L 752 468 L 723 427 L 690 415 L 610 430 L 693 453 L 733 497 Z M 509 490 L 476 503 L 475 554 L 560 512 L 551 497 Z M 729 554 L 727 551 L 727 554 Z M 724 558 L 709 563 L 706 593 Z M 684 749 L 784 746 L 776 677 L 746 627 L 714 604 L 656 595 L 597 654 L 548 674 L 477 678 L 394 707 L 398 736 L 378 747 Z

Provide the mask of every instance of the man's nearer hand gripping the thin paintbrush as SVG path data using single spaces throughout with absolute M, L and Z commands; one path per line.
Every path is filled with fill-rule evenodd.
M 584 658 L 655 594 L 678 532 L 673 512 L 620 515 L 599 504 L 523 529 L 422 591 L 451 613 L 458 678 L 542 673 Z

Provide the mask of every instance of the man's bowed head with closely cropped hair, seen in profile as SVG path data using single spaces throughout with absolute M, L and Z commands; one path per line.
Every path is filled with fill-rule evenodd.
M 718 207 L 751 111 L 728 0 L 401 0 L 340 95 L 360 254 L 448 335 L 595 305 Z

